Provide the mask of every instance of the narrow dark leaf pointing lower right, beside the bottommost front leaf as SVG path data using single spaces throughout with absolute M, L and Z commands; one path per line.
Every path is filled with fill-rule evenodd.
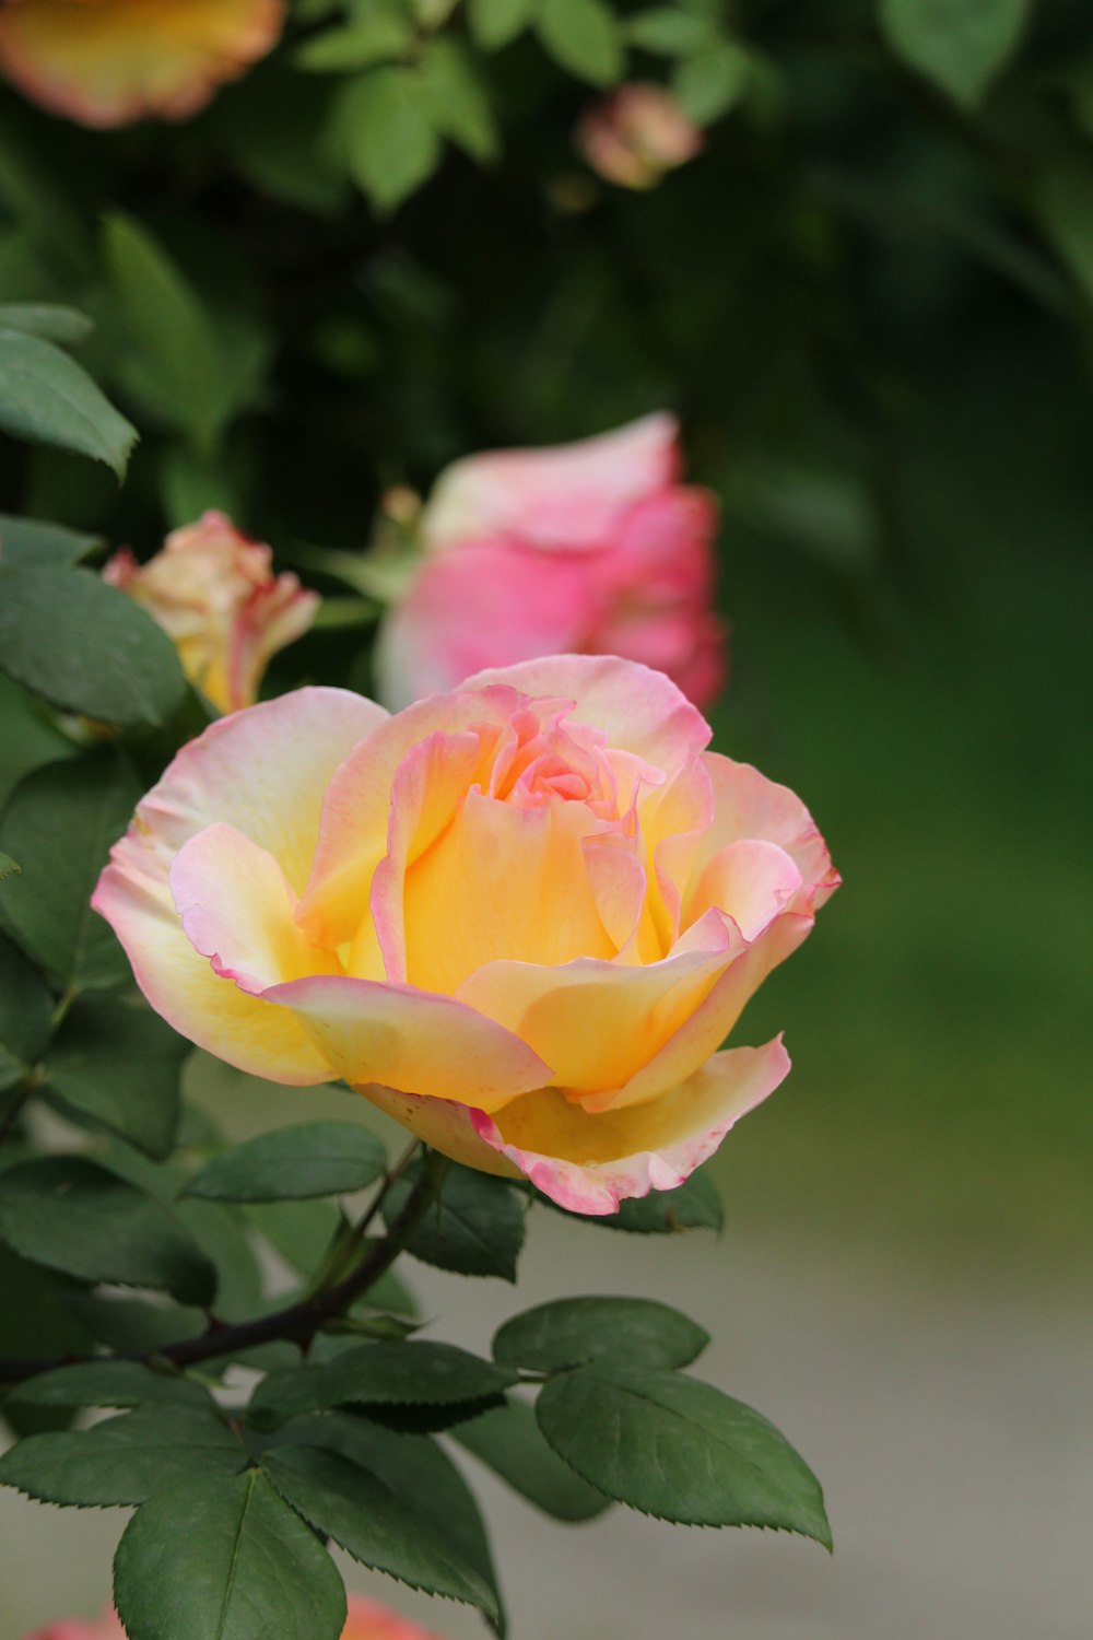
M 474 1566 L 356 1463 L 321 1446 L 279 1446 L 262 1463 L 282 1497 L 364 1566 L 498 1619 L 497 1597 Z

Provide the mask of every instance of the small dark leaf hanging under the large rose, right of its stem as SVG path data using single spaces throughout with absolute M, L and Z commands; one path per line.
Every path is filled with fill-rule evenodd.
M 392 1186 L 383 1202 L 388 1223 L 406 1204 L 420 1169 Z M 424 1264 L 460 1276 L 500 1276 L 516 1281 L 516 1260 L 524 1245 L 524 1205 L 508 1181 L 456 1163 L 444 1174 L 439 1200 L 429 1207 L 406 1251 Z

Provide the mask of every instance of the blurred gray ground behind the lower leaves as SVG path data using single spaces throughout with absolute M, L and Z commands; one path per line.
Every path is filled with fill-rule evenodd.
M 836 1555 L 621 1509 L 559 1527 L 478 1473 L 515 1640 L 1090 1640 L 1093 1320 L 1077 1287 L 959 1266 L 931 1286 L 906 1248 L 855 1266 L 791 1228 L 665 1243 L 536 1214 L 531 1230 L 519 1296 L 415 1266 L 438 1335 L 482 1350 L 515 1309 L 574 1291 L 677 1304 L 714 1335 L 695 1371 L 819 1473 Z M 121 1524 L 3 1494 L 0 1640 L 100 1606 Z M 356 1568 L 351 1583 L 452 1640 L 485 1635 L 459 1607 Z

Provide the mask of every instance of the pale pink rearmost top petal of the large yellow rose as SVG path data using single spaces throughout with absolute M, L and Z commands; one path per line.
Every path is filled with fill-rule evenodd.
M 610 746 L 637 753 L 667 776 L 708 746 L 713 735 L 701 712 L 670 679 L 616 654 L 549 654 L 495 666 L 469 677 L 460 694 L 493 686 L 574 700 L 574 723 L 605 730 Z

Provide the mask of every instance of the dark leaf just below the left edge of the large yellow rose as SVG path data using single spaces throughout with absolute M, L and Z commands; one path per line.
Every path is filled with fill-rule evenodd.
M 147 1007 L 77 1002 L 46 1056 L 46 1084 L 70 1112 L 162 1159 L 175 1145 L 182 1061 L 190 1051 Z

